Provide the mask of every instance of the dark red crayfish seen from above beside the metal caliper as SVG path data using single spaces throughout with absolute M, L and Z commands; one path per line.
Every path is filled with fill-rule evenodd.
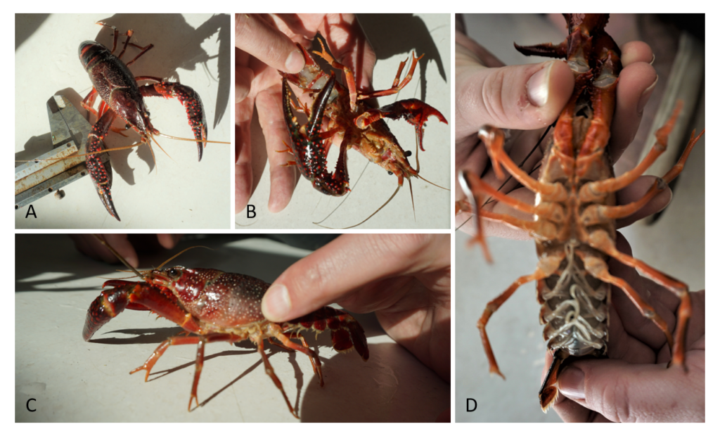
M 103 23 L 98 24 L 104 25 Z M 104 45 L 95 41 L 85 41 L 80 44 L 78 55 L 93 84 L 93 89 L 85 97 L 82 105 L 86 110 L 98 117 L 96 124 L 88 135 L 86 164 L 102 204 L 110 215 L 120 221 L 120 216 L 115 210 L 110 195 L 112 170 L 106 171 L 98 156 L 105 148 L 103 139 L 108 130 L 111 129 L 115 118 L 122 118 L 127 126 L 140 135 L 140 143 L 148 143 L 149 146 L 151 140 L 155 141 L 153 136 L 161 134 L 150 123 L 150 112 L 145 107 L 143 97 L 178 99 L 185 107 L 189 124 L 197 141 L 198 161 L 202 159 L 203 143 L 208 142 L 207 122 L 205 121 L 202 101 L 192 88 L 179 83 L 163 81 L 163 79 L 153 76 L 135 77 L 127 68 L 137 61 L 141 55 L 153 48 L 152 44 L 140 47 L 140 45 L 130 43 L 132 30 L 128 30 L 125 33 L 127 35 L 125 44 L 120 54 L 116 56 L 113 53 L 117 48 L 118 31 L 113 26 L 108 27 L 112 27 L 114 30 L 112 50 L 108 50 Z M 140 53 L 130 62 L 124 63 L 121 59 L 128 45 L 139 48 Z M 156 83 L 138 86 L 138 81 L 153 81 Z M 98 95 L 102 98 L 102 102 L 96 111 L 92 106 Z M 152 148 L 150 148 L 150 152 L 152 152 Z

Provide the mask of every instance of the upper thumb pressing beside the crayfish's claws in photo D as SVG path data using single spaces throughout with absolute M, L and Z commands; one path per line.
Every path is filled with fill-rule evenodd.
M 485 124 L 521 130 L 545 127 L 557 119 L 575 86 L 575 76 L 563 61 L 458 69 L 458 138 L 474 135 Z

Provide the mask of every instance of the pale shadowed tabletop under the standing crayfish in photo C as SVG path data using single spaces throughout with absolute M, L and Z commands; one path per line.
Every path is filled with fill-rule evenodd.
M 213 250 L 192 249 L 171 263 L 245 272 L 267 282 L 309 253 L 266 239 L 211 235 L 140 257 L 141 267 L 194 245 Z M 202 406 L 188 412 L 196 347 L 170 347 L 148 383 L 143 374 L 128 374 L 180 332 L 178 326 L 126 310 L 91 342 L 81 337 L 102 277 L 128 277 L 114 272 L 120 266 L 84 257 L 64 235 L 17 235 L 16 246 L 16 422 L 297 422 L 247 341 L 207 344 L 198 387 Z M 329 334 L 317 340 L 305 335 L 323 362 L 323 388 L 305 355 L 266 347 L 300 420 L 434 422 L 450 406 L 449 384 L 387 337 L 372 313 L 357 319 L 368 338 L 367 362 L 356 352 L 332 350 Z M 32 413 L 25 408 L 30 398 L 36 399 Z

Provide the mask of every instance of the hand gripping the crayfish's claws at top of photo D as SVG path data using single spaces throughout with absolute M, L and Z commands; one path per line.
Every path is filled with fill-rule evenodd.
M 458 27 L 462 28 L 462 27 Z M 629 143 L 642 119 L 642 110 L 657 81 L 652 61 L 652 50 L 645 43 L 631 42 L 621 47 L 620 73 L 617 87 L 616 112 L 611 125 L 611 141 L 608 149 L 615 162 Z M 490 124 L 500 128 L 525 130 L 510 133 L 508 154 L 518 165 L 530 154 L 531 149 L 544 133 L 543 126 L 549 125 L 559 115 L 572 94 L 574 79 L 570 68 L 563 61 L 503 66 L 485 48 L 456 32 L 456 171 L 469 170 L 482 174 L 489 165 L 485 146 L 479 145 L 477 130 L 481 125 Z M 532 130 L 538 129 L 539 130 Z M 541 150 L 534 151 L 521 167 L 531 172 L 542 159 Z M 537 178 L 537 172 L 531 176 Z M 534 192 L 525 187 L 513 190 L 516 183 L 500 185 L 489 171 L 482 177 L 492 187 L 508 193 L 525 203 L 534 203 Z M 654 182 L 654 177 L 641 177 L 631 186 L 618 192 L 618 204 L 639 200 Z M 456 184 L 456 192 L 462 199 L 462 190 Z M 634 215 L 618 220 L 618 227 L 627 226 L 644 216 L 665 208 L 670 201 L 670 190 L 654 197 Z M 523 213 L 498 202 L 488 203 L 485 210 L 495 213 L 527 218 Z M 469 213 L 456 216 L 456 226 L 467 222 Z M 511 239 L 528 239 L 525 231 L 510 228 L 505 223 L 483 222 L 484 233 Z M 472 226 L 463 230 L 474 231 Z

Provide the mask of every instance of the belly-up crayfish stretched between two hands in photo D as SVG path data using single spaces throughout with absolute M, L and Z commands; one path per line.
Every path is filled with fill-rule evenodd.
M 670 120 L 657 131 L 652 151 L 631 171 L 615 177 L 606 148 L 615 110 L 616 86 L 621 71 L 620 50 L 605 31 L 607 14 L 564 14 L 569 36 L 558 45 L 542 44 L 516 48 L 526 55 L 567 58 L 575 73 L 575 89 L 557 120 L 552 145 L 546 149 L 538 180 L 530 177 L 503 149 L 503 132 L 485 126 L 479 137 L 487 147 L 498 178 L 503 169 L 536 193 L 535 205 L 523 203 L 498 192 L 471 172 L 461 174 L 460 183 L 469 203 L 461 210 L 474 209 L 477 236 L 474 241 L 489 252 L 482 236 L 482 218 L 522 228 L 534 237 L 539 262 L 534 273 L 518 278 L 497 298 L 487 303 L 477 322 L 490 362 L 490 372 L 502 376 L 485 326 L 502 304 L 526 282 L 538 281 L 540 319 L 545 324 L 544 339 L 552 353 L 552 365 L 539 393 L 543 411 L 557 399 L 557 376 L 569 357 L 605 357 L 608 349 L 608 306 L 610 286 L 621 289 L 647 318 L 665 334 L 672 350 L 671 365 L 685 364 L 685 336 L 690 318 L 690 295 L 685 283 L 654 270 L 644 262 L 616 249 L 618 218 L 627 217 L 646 205 L 667 183 L 680 174 L 699 136 L 691 135 L 680 161 L 664 177 L 656 179 L 647 193 L 634 203 L 616 205 L 615 192 L 634 182 L 667 147 L 667 136 L 675 125 L 682 104 L 678 103 Z M 700 135 L 703 135 L 703 132 Z M 495 197 L 524 213 L 532 221 L 482 210 L 483 196 Z M 680 298 L 675 337 L 629 283 L 608 271 L 608 259 L 636 268 L 671 290 Z M 504 378 L 504 377 L 503 377 Z

